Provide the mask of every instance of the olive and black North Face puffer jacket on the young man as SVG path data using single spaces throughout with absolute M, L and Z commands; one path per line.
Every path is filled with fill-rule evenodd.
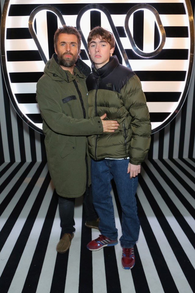
M 149 150 L 151 122 L 146 98 L 137 75 L 119 64 L 116 56 L 96 69 L 86 80 L 89 117 L 101 116 L 117 120 L 119 128 L 114 133 L 103 133 L 88 138 L 91 158 L 127 158 L 133 165 L 141 164 Z

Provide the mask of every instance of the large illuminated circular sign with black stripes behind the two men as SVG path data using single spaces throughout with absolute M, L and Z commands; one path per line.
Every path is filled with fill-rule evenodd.
M 1 22 L 1 58 L 5 84 L 19 116 L 42 133 L 36 83 L 54 53 L 53 36 L 62 24 L 82 35 L 80 58 L 90 66 L 87 36 L 100 25 L 116 39 L 114 54 L 140 78 L 150 111 L 152 132 L 179 112 L 190 84 L 194 26 L 190 1 L 162 0 L 5 1 Z M 88 1 L 87 1 L 88 2 Z

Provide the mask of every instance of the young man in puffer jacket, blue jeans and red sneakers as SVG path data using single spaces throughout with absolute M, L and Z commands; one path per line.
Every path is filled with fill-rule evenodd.
M 95 27 L 90 31 L 87 45 L 94 62 L 86 80 L 89 117 L 101 116 L 106 111 L 108 119 L 119 123 L 112 135 L 103 133 L 88 138 L 93 203 L 100 217 L 101 235 L 88 243 L 87 248 L 95 251 L 118 243 L 110 194 L 113 178 L 122 208 L 122 267 L 131 269 L 140 229 L 135 198 L 137 175 L 151 140 L 149 111 L 139 78 L 119 64 L 116 56 L 111 56 L 115 49 L 113 35 Z

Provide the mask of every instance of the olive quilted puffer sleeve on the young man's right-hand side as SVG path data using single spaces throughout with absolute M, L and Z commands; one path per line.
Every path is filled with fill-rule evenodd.
M 126 83 L 122 99 L 131 118 L 132 138 L 129 162 L 133 165 L 139 165 L 145 160 L 150 148 L 151 122 L 146 98 L 137 75 L 133 75 Z

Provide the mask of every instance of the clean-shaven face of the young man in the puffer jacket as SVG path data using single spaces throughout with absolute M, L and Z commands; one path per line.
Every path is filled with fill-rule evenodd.
M 110 44 L 103 39 L 96 38 L 89 44 L 89 54 L 96 68 L 105 65 L 109 61 L 110 54 L 113 52 L 114 48 L 110 48 Z

